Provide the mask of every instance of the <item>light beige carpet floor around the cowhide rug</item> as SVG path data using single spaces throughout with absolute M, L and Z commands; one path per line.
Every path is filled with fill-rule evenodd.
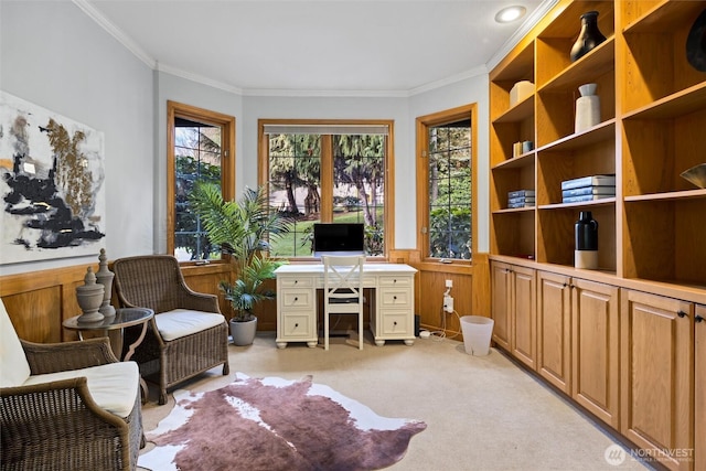
M 417 339 L 411 346 L 386 342 L 378 347 L 370 332 L 362 351 L 350 340 L 332 338 L 331 342 L 329 351 L 297 343 L 279 350 L 274 333 L 258 333 L 253 345 L 228 347 L 231 371 L 290 381 L 312 375 L 315 383 L 381 416 L 422 420 L 426 430 L 413 438 L 405 457 L 389 470 L 649 469 L 563 395 L 495 349 L 488 356 L 472 356 L 466 354 L 462 342 L 435 336 Z M 181 387 L 213 390 L 234 378 L 235 373 L 223 376 L 217 367 Z M 163 406 L 156 404 L 157 397 L 157 387 L 150 385 L 150 402 L 142 409 L 148 431 L 174 407 L 172 395 Z M 142 453 L 152 447 L 148 443 Z M 606 459 L 614 447 L 625 453 L 618 465 Z M 248 468 L 244 463 L 234 469 Z

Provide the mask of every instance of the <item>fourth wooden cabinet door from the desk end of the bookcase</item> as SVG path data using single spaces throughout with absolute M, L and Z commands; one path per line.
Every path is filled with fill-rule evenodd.
M 571 390 L 574 399 L 595 416 L 620 427 L 619 289 L 571 280 Z

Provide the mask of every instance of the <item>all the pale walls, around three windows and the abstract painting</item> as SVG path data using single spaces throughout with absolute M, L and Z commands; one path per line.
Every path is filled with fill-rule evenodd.
M 167 248 L 167 100 L 236 117 L 236 194 L 257 184 L 260 118 L 395 121 L 395 246 L 416 247 L 415 118 L 479 104 L 479 248 L 488 250 L 488 76 L 411 97 L 248 96 L 152 71 L 68 1 L 0 1 L 0 88 L 105 132 L 108 257 Z M 8 158 L 0 156 L 0 158 Z M 97 259 L 97 256 L 96 256 Z M 0 275 L 94 263 L 0 267 Z

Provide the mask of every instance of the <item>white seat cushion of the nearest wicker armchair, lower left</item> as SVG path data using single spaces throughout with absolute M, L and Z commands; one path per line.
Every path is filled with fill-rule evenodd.
M 24 384 L 50 383 L 81 376 L 88 378 L 90 397 L 101 409 L 122 418 L 130 415 L 140 382 L 140 371 L 135 362 L 108 363 L 83 370 L 32 375 Z

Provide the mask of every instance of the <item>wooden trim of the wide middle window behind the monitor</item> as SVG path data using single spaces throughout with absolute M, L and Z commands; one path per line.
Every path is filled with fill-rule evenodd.
M 269 191 L 269 140 L 265 132 L 266 126 L 386 126 L 387 127 L 387 149 L 385 160 L 385 253 L 383 256 L 368 257 L 374 259 L 389 259 L 389 254 L 395 250 L 393 244 L 395 242 L 395 121 L 392 119 L 258 119 L 257 120 L 257 154 L 258 154 L 258 184 L 268 185 Z M 330 135 L 322 135 L 324 141 L 330 141 Z M 323 156 L 329 152 L 330 146 L 321 146 Z M 332 162 L 331 162 L 332 163 Z M 321 162 L 322 173 L 332 173 L 333 168 L 325 159 Z M 332 179 L 331 179 L 332 180 Z M 323 182 L 321 185 L 321 213 L 332 211 L 333 207 L 333 186 L 332 182 Z M 333 214 L 329 216 L 333 217 Z M 313 257 L 297 257 L 297 260 L 313 260 Z

